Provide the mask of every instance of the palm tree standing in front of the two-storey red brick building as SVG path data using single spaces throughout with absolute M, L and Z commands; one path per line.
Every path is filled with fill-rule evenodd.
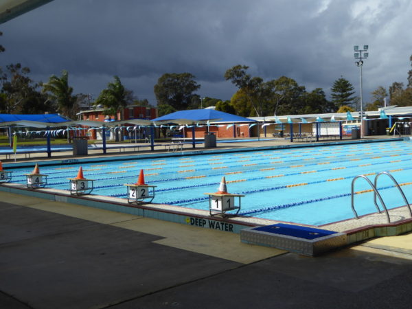
M 124 88 L 119 76 L 114 76 L 114 81 L 107 84 L 107 88 L 103 89 L 94 105 L 102 105 L 104 107 L 104 115 L 115 115 L 117 119 L 117 111 L 121 111 L 120 118 L 123 118 L 123 110 L 128 102 L 133 102 L 133 93 Z M 121 120 L 117 119 L 117 120 Z

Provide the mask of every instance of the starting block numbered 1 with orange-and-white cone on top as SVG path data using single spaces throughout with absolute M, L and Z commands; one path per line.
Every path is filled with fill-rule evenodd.
M 240 211 L 240 198 L 242 194 L 231 194 L 227 192 L 225 176 L 222 177 L 218 192 L 205 193 L 209 195 L 209 214 L 210 216 L 226 215 L 227 211 L 236 211 L 231 216 L 237 216 Z M 238 203 L 236 203 L 238 198 Z M 227 216 L 227 215 L 226 215 Z

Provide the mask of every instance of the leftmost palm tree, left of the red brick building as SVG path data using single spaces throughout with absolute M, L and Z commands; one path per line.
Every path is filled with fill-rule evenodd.
M 62 76 L 52 75 L 49 82 L 43 84 L 43 93 L 47 93 L 50 101 L 57 106 L 57 111 L 69 118 L 76 118 L 76 96 L 72 95 L 73 88 L 69 87 L 69 73 L 62 71 Z

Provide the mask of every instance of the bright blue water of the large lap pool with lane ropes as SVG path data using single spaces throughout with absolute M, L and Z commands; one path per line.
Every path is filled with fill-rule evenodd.
M 227 179 L 228 192 L 244 194 L 240 215 L 323 225 L 353 218 L 350 185 L 354 176 L 388 171 L 402 185 L 412 201 L 412 141 L 386 141 L 370 144 L 233 152 L 163 159 L 138 159 L 42 166 L 48 174 L 47 187 L 69 189 L 67 178 L 77 175 L 81 165 L 87 179 L 95 179 L 93 194 L 126 198 L 124 183 L 135 183 L 144 169 L 145 181 L 156 185 L 153 203 L 196 209 L 209 209 L 203 193 L 216 192 Z M 25 183 L 23 174 L 13 170 L 13 182 Z M 379 178 L 378 187 L 388 208 L 404 205 L 388 176 Z M 370 190 L 358 179 L 355 192 Z M 376 211 L 371 192 L 356 194 L 359 215 Z

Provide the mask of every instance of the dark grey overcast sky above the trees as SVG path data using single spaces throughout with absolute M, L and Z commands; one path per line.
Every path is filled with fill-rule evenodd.
M 155 104 L 163 73 L 189 72 L 202 97 L 229 100 L 233 65 L 252 76 L 293 78 L 308 91 L 343 76 L 360 95 L 354 45 L 369 45 L 364 102 L 378 86 L 407 84 L 409 0 L 55 0 L 0 25 L 0 65 L 21 62 L 47 82 L 69 71 L 74 93 L 100 91 L 117 75 Z

